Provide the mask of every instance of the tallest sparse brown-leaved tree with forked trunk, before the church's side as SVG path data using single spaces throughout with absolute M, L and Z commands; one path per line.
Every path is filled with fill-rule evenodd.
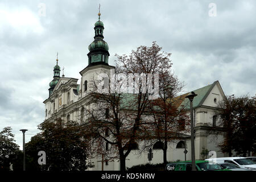
M 118 158 L 121 171 L 126 170 L 126 157 L 138 141 L 145 139 L 143 133 L 150 124 L 147 117 L 150 113 L 148 106 L 151 96 L 157 93 L 151 92 L 149 85 L 152 86 L 151 88 L 156 87 L 156 81 L 151 81 L 147 74 L 151 73 L 154 77 L 156 73 L 168 72 L 171 67 L 169 59 L 171 54 L 161 50 L 162 48 L 153 42 L 151 47 L 138 47 L 136 51 L 131 51 L 129 56 L 116 55 L 116 75 L 111 78 L 114 82 L 114 92 L 109 89 L 108 93 L 90 94 L 92 105 L 86 109 L 89 120 L 85 126 L 94 138 L 94 146 L 97 147 L 98 154 L 104 154 L 108 158 Z M 120 73 L 122 78 L 117 76 Z M 142 77 L 134 78 L 135 84 L 128 86 L 126 90 L 128 85 L 126 78 L 137 74 Z M 144 81 L 148 87 L 143 87 Z M 94 91 L 98 90 L 97 80 L 93 80 L 91 86 Z M 111 86 L 109 85 L 110 88 Z M 135 91 L 134 88 L 138 90 Z M 132 92 L 127 94 L 128 90 Z M 109 111 L 106 112 L 106 109 Z M 110 147 L 106 150 L 105 145 L 108 144 Z

